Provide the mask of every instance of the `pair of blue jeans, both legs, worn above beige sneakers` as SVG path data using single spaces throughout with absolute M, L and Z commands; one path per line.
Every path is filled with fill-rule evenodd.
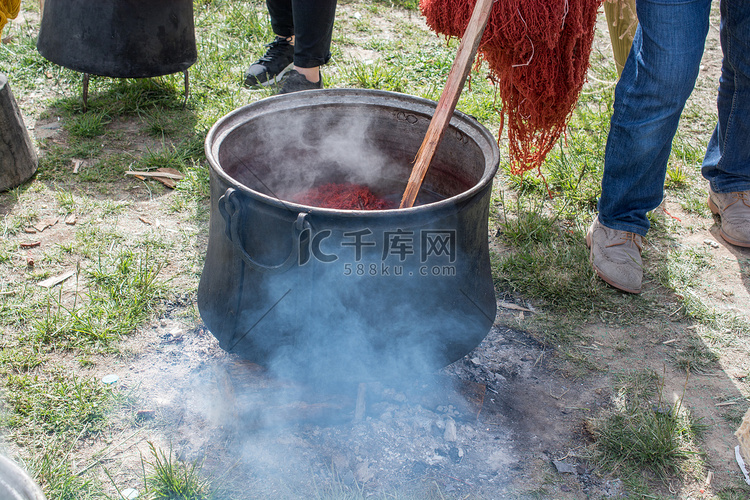
M 695 86 L 711 0 L 637 0 L 638 30 L 615 89 L 599 220 L 645 236 L 664 197 L 680 114 Z M 750 1 L 721 0 L 718 124 L 702 173 L 715 192 L 750 190 Z

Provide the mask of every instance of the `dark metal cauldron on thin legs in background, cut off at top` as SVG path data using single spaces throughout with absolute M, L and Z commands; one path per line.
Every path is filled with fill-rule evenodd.
M 195 63 L 193 0 L 46 0 L 46 59 L 83 73 L 150 78 Z

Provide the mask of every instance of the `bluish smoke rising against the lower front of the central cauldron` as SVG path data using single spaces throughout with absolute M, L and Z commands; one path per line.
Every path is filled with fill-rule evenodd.
M 379 259 L 382 249 L 372 253 Z M 275 376 L 323 389 L 409 380 L 462 357 L 489 331 L 491 277 L 478 279 L 471 266 L 464 256 L 450 265 L 363 257 L 274 275 L 245 270 L 237 321 L 214 334 Z

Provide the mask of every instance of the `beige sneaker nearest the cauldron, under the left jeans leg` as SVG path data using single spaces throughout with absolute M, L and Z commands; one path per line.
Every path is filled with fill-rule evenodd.
M 624 292 L 641 293 L 641 235 L 610 229 L 597 217 L 586 233 L 586 245 L 591 249 L 591 265 L 601 279 Z

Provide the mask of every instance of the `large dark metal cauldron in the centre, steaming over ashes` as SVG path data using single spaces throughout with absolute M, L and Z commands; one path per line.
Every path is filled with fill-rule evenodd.
M 347 181 L 397 206 L 434 109 L 391 92 L 320 90 L 261 100 L 213 126 L 198 308 L 224 349 L 364 380 L 434 370 L 484 338 L 496 311 L 487 221 L 499 152 L 476 120 L 453 116 L 421 206 L 289 201 Z

